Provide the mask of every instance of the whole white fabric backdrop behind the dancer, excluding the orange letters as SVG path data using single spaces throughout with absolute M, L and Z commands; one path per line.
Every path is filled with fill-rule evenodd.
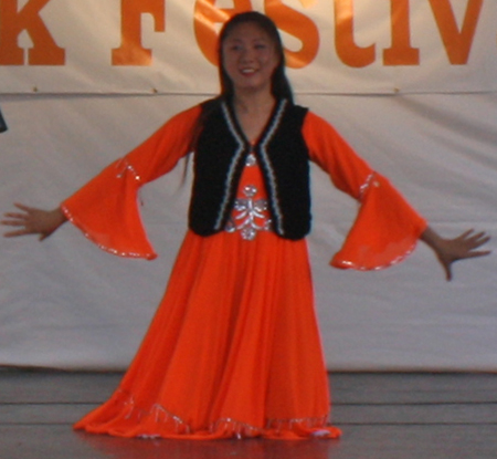
M 0 106 L 9 125 L 0 135 L 2 210 L 11 209 L 12 201 L 56 206 L 169 116 L 216 91 L 215 70 L 194 41 L 167 60 L 167 70 L 162 66 L 160 32 L 147 38 L 151 65 L 112 65 L 109 50 L 119 45 L 118 36 L 110 27 L 96 27 L 92 8 L 97 2 L 85 2 L 85 11 L 80 3 L 51 0 L 43 11 L 46 23 L 61 11 L 80 21 L 60 34 L 59 22 L 50 23 L 57 45 L 66 49 L 65 65 L 0 65 Z M 193 3 L 167 3 L 165 33 L 171 49 L 175 30 L 193 34 Z M 315 18 L 321 43 L 326 38 L 334 42 L 332 1 L 286 3 Z M 465 8 L 476 3 L 447 0 L 459 27 Z M 411 36 L 421 50 L 420 64 L 385 66 L 381 55 L 390 45 L 390 1 L 372 10 L 356 0 L 355 40 L 361 46 L 376 43 L 378 62 L 351 67 L 326 42 L 308 66 L 290 69 L 296 98 L 330 121 L 435 229 L 456 236 L 475 227 L 497 234 L 497 6 L 482 3 L 468 62 L 454 65 L 427 4 L 411 0 Z M 119 2 L 106 2 L 99 11 L 119 29 Z M 172 22 L 175 14 L 179 22 Z M 146 28 L 145 19 L 142 23 Z M 97 35 L 110 30 L 102 35 L 105 45 L 95 44 L 101 36 L 89 34 L 85 24 L 94 24 Z M 89 36 L 85 42 L 73 36 L 82 31 Z M 427 36 L 431 45 L 423 44 Z M 184 233 L 189 184 L 181 186 L 181 169 L 142 191 L 144 220 L 158 260 L 101 252 L 70 225 L 43 243 L 0 240 L 0 365 L 123 368 L 129 363 Z M 313 188 L 315 220 L 308 240 L 330 369 L 497 369 L 494 255 L 456 264 L 451 283 L 422 246 L 385 271 L 331 269 L 327 263 L 356 204 L 317 169 Z

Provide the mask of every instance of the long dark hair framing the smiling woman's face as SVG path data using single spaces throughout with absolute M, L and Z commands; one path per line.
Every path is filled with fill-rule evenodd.
M 247 11 L 233 15 L 229 21 L 226 21 L 221 29 L 219 40 L 218 40 L 218 65 L 219 65 L 219 77 L 221 83 L 221 96 L 225 100 L 231 100 L 233 97 L 233 82 L 228 75 L 223 66 L 223 43 L 230 33 L 240 24 L 254 23 L 258 25 L 274 43 L 276 53 L 279 58 L 279 64 L 276 66 L 272 79 L 272 93 L 276 98 L 288 98 L 293 102 L 294 96 L 292 92 L 292 86 L 285 74 L 285 52 L 283 50 L 282 38 L 279 36 L 276 24 L 265 14 L 256 11 Z

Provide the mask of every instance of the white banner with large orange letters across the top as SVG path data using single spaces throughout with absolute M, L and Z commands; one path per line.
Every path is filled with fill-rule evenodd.
M 215 93 L 218 31 L 247 10 L 298 93 L 497 90 L 494 0 L 0 0 L 0 93 Z

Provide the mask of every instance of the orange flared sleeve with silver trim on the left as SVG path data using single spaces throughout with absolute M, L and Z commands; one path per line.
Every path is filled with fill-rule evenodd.
M 157 257 L 138 205 L 139 188 L 187 155 L 200 106 L 184 111 L 61 204 L 66 218 L 101 249 L 120 257 Z

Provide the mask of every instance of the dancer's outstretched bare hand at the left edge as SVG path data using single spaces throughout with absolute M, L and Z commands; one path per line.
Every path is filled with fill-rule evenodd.
M 7 212 L 3 215 L 4 220 L 0 221 L 1 225 L 7 227 L 18 228 L 13 231 L 6 232 L 3 234 L 6 238 L 40 234 L 39 239 L 42 241 L 66 221 L 66 218 L 60 208 L 54 210 L 42 210 L 22 204 L 14 204 L 14 206 L 20 211 Z

